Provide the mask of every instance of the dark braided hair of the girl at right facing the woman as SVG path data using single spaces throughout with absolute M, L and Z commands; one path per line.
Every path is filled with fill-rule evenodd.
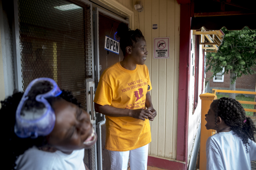
M 215 108 L 215 125 L 217 128 L 217 117 L 226 123 L 227 126 L 237 134 L 248 152 L 248 139 L 255 141 L 256 127 L 250 117 L 246 117 L 243 106 L 233 98 L 222 97 L 213 101 Z

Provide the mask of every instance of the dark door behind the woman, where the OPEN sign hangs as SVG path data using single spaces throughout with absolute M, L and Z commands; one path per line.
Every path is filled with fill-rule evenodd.
M 110 14 L 102 9 L 95 8 L 94 11 L 94 46 L 95 46 L 95 91 L 102 72 L 109 66 L 123 60 L 124 55 L 119 47 L 119 54 L 105 50 L 105 37 L 108 36 L 119 42 L 117 37 L 118 25 L 124 22 L 128 25 L 128 21 L 123 18 Z M 109 152 L 105 149 L 105 116 L 96 113 L 96 131 L 98 134 L 97 153 L 98 153 L 98 169 L 110 170 Z

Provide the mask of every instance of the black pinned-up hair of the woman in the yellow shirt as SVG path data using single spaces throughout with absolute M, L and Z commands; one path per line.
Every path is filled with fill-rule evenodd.
M 134 47 L 135 43 L 141 39 L 145 39 L 139 29 L 131 30 L 128 26 L 121 22 L 117 28 L 117 36 L 120 37 L 120 48 L 125 56 L 126 47 Z

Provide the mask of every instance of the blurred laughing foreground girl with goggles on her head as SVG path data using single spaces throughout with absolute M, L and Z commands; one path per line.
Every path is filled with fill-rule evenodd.
M 4 162 L 16 170 L 86 170 L 84 148 L 97 141 L 90 117 L 71 92 L 49 78 L 1 101 Z

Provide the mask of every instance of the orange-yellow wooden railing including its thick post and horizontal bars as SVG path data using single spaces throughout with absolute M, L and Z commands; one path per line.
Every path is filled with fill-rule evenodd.
M 215 134 L 215 130 L 207 130 L 204 126 L 206 124 L 205 114 L 207 114 L 210 109 L 210 105 L 213 100 L 217 99 L 216 92 L 222 93 L 237 93 L 237 94 L 255 94 L 253 91 L 237 91 L 237 90 L 218 90 L 212 89 L 212 93 L 200 94 L 200 99 L 202 100 L 201 105 L 201 140 L 200 140 L 200 163 L 199 169 L 206 170 L 206 141 L 208 137 Z M 242 104 L 256 105 L 255 101 L 239 101 Z M 256 109 L 245 109 L 248 112 L 256 112 Z

